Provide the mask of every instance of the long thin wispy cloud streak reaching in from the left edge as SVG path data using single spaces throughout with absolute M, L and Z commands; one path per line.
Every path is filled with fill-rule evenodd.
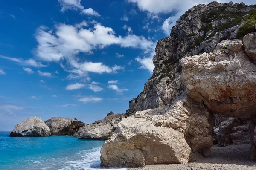
M 11 57 L 3 56 L 3 55 L 0 55 L 0 58 L 5 58 L 7 60 L 14 61 L 23 66 L 32 66 L 32 67 L 36 67 L 36 68 L 47 67 L 46 65 L 43 65 L 41 62 L 37 62 L 31 58 L 28 60 L 24 60 L 22 58 L 11 58 Z

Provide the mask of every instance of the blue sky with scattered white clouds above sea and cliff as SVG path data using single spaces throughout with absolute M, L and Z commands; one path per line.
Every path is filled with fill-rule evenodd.
M 1 1 L 0 130 L 32 116 L 88 124 L 125 113 L 152 75 L 157 40 L 189 8 L 209 2 Z

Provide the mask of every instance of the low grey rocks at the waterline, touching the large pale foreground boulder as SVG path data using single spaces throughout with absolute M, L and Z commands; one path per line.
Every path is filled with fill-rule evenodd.
M 92 124 L 87 124 L 84 127 L 81 127 L 78 131 L 78 138 L 107 140 L 111 138 L 117 124 L 123 118 L 125 118 L 125 116 L 122 114 L 111 114 L 110 112 L 103 120 L 95 121 Z

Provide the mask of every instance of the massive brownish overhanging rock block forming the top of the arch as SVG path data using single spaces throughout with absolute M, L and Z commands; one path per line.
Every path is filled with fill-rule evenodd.
M 191 98 L 212 112 L 250 120 L 256 115 L 256 65 L 241 40 L 224 48 L 181 59 L 183 84 Z

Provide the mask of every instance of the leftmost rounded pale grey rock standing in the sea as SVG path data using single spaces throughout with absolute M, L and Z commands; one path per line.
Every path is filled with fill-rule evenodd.
M 40 118 L 31 117 L 21 123 L 18 123 L 10 133 L 10 137 L 22 136 L 51 136 L 51 130 Z

